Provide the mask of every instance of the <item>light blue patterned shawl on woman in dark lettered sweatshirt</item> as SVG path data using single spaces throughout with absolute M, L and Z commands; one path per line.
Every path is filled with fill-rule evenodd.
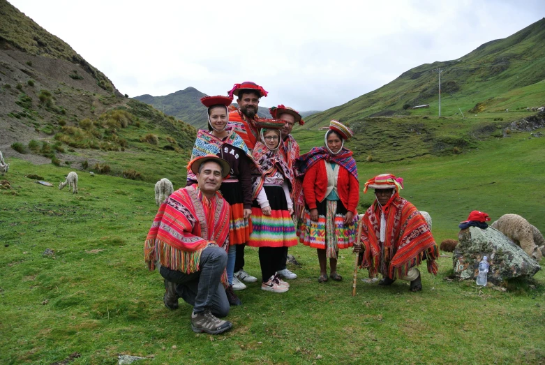
M 191 159 L 189 161 L 193 161 L 193 158 L 195 157 L 205 156 L 207 154 L 213 154 L 218 157 L 223 157 L 221 156 L 221 146 L 227 143 L 233 147 L 237 147 L 244 151 L 246 156 L 250 158 L 250 161 L 255 163 L 253 161 L 252 153 L 248 149 L 248 147 L 246 147 L 244 140 L 242 140 L 242 138 L 237 133 L 234 133 L 232 127 L 227 127 L 226 131 L 227 133 L 229 133 L 229 135 L 225 140 L 221 140 L 218 137 L 212 135 L 211 132 L 200 129 L 197 132 L 197 139 L 195 140 L 195 144 L 193 145 L 193 152 L 191 153 Z M 195 174 L 193 174 L 193 171 L 191 171 L 191 169 L 187 170 L 187 180 L 197 181 L 197 177 L 195 176 Z

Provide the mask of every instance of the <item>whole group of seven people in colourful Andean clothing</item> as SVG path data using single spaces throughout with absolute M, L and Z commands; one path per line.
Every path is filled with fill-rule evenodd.
M 197 133 L 187 186 L 160 205 L 144 244 L 149 269 L 164 278 L 165 306 L 176 309 L 182 298 L 193 306 L 194 332 L 225 332 L 232 323 L 220 318 L 241 304 L 234 291 L 257 282 L 244 270 L 244 247 L 258 248 L 261 289 L 281 293 L 290 288 L 285 279 L 297 278 L 286 262 L 298 241 L 316 248 L 319 283 L 343 280 L 338 251 L 353 247 L 361 268 L 384 276 L 381 285 L 401 278 L 421 290 L 416 266 L 427 260 L 436 274 L 438 247 L 419 211 L 399 196 L 401 179 L 367 181 L 364 192 L 374 188 L 377 199 L 360 218 L 357 166 L 344 147 L 350 128 L 331 121 L 324 146 L 300 155 L 290 133 L 304 124 L 301 114 L 278 105 L 269 110 L 273 119 L 260 118 L 265 96 L 242 82 L 227 96 L 201 99 L 208 128 Z

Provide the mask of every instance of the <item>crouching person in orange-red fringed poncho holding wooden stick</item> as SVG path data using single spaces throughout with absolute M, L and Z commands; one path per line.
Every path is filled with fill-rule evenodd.
M 420 271 L 422 260 L 428 271 L 437 274 L 439 248 L 418 209 L 399 196 L 403 179 L 392 174 L 380 174 L 365 183 L 375 189 L 376 200 L 362 218 L 361 241 L 354 244 L 360 253 L 360 268 L 367 268 L 370 276 L 380 272 L 380 285 L 391 285 L 396 278 L 410 281 L 409 290 L 422 290 Z

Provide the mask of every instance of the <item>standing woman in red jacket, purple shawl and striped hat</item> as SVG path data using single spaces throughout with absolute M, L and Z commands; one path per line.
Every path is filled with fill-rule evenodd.
M 320 262 L 319 283 L 329 277 L 343 280 L 337 273 L 338 250 L 355 241 L 359 182 L 352 151 L 344 147 L 352 131 L 338 121 L 331 121 L 325 133 L 325 146 L 314 147 L 295 161 L 298 178 L 303 177 L 306 209 L 297 230 L 299 241 L 316 248 Z

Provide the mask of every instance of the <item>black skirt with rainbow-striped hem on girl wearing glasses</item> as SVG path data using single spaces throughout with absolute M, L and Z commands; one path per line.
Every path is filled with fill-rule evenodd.
M 257 200 L 252 204 L 252 226 L 248 246 L 290 247 L 297 245 L 295 224 L 288 211 L 284 190 L 281 186 L 263 186 L 271 206 L 271 215 L 265 216 Z

